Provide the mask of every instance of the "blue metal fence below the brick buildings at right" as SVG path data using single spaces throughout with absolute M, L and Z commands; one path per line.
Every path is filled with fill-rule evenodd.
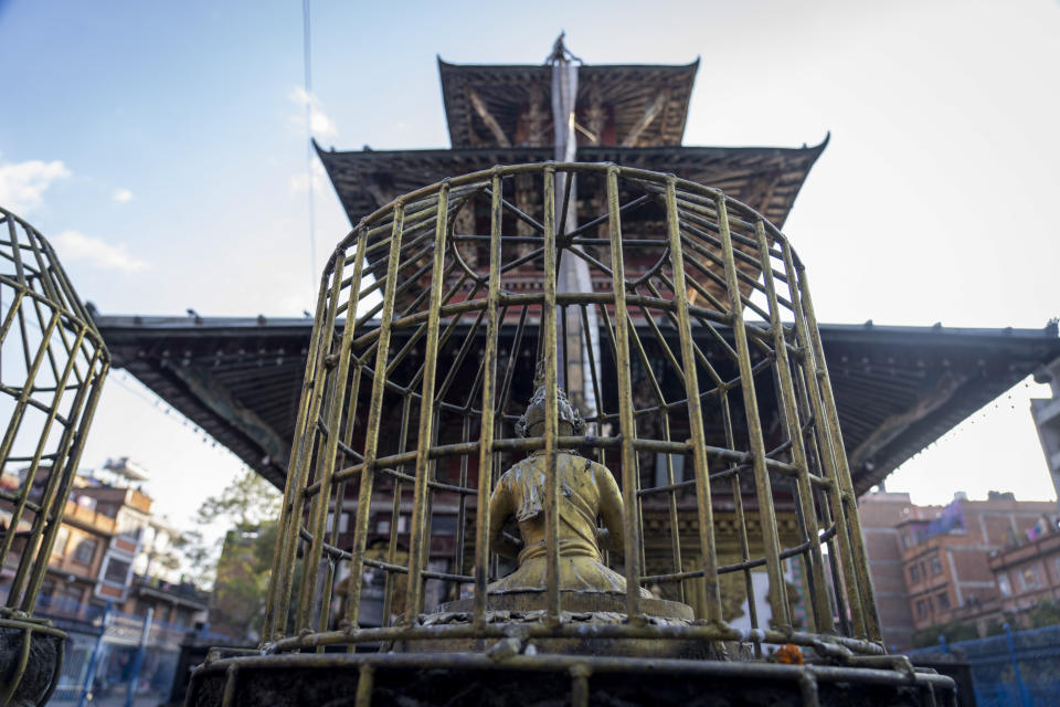
M 911 651 L 910 656 L 954 655 L 972 666 L 979 707 L 1060 705 L 1060 625 Z

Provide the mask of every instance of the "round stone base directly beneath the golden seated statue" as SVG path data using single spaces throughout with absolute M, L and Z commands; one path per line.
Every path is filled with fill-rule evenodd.
M 604 592 L 564 591 L 560 595 L 564 623 L 600 625 L 626 622 L 626 598 Z M 638 599 L 638 613 L 654 625 L 689 625 L 695 619 L 692 608 L 665 599 Z M 421 626 L 466 625 L 473 620 L 474 599 L 462 599 L 442 604 L 433 614 L 420 616 Z M 547 619 L 544 592 L 506 592 L 489 594 L 487 623 L 506 624 L 512 635 L 520 626 L 532 626 Z M 481 653 L 492 650 L 497 639 L 412 640 L 394 643 L 398 653 Z M 532 647 L 531 647 L 532 646 Z M 564 655 L 655 656 L 669 658 L 721 658 L 724 648 L 702 641 L 659 641 L 656 639 L 533 639 L 519 651 Z

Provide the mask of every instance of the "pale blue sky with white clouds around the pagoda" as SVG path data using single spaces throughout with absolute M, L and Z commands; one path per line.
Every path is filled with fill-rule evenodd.
M 1041 327 L 1060 315 L 1060 4 L 312 3 L 325 146 L 447 147 L 436 55 L 701 59 L 686 144 L 831 143 L 785 231 L 828 321 Z M 349 229 L 316 183 L 310 262 L 301 2 L 0 0 L 0 200 L 106 314 L 300 316 Z M 182 521 L 236 473 L 119 373 L 86 462 L 130 454 Z M 897 472 L 1052 497 L 1017 387 Z M 1006 440 L 1017 452 L 990 447 Z M 1004 478 L 998 478 L 998 472 Z

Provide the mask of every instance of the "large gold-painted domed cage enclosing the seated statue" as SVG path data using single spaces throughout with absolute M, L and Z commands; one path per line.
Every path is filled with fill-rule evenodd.
M 536 390 L 541 424 L 519 436 Z M 543 163 L 393 201 L 328 262 L 296 430 L 269 653 L 476 648 L 513 622 L 556 653 L 586 639 L 883 653 L 806 273 L 716 189 Z M 543 536 L 520 550 L 491 515 L 529 457 Z M 571 580 L 564 550 L 581 492 L 558 464 L 600 469 L 579 460 L 621 489 L 622 537 L 598 555 L 621 581 L 603 589 Z M 498 544 L 520 569 L 533 550 L 540 584 L 502 587 Z

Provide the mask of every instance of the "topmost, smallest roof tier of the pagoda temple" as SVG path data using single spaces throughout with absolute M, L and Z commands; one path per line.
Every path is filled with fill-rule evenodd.
M 682 66 L 579 66 L 579 145 L 680 145 L 698 70 L 699 60 Z M 550 65 L 448 64 L 438 59 L 438 73 L 455 149 L 553 144 Z

